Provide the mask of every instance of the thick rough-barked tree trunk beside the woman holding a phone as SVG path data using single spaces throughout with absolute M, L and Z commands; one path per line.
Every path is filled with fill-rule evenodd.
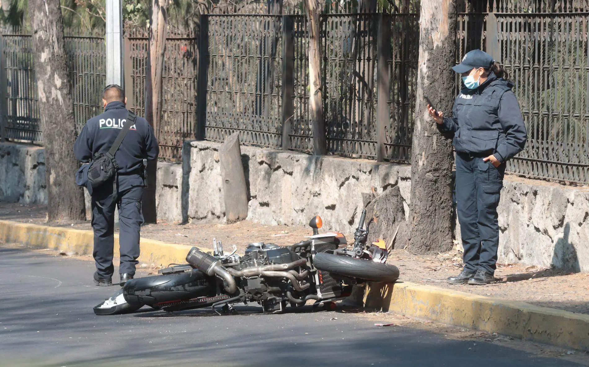
M 409 251 L 452 248 L 452 145 L 436 129 L 423 95 L 446 116 L 454 102 L 456 0 L 422 0 L 419 70 L 411 152 Z

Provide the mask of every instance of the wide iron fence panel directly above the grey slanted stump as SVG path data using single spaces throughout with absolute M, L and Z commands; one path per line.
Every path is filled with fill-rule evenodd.
M 280 146 L 282 141 L 282 16 L 209 15 L 201 58 L 204 138 Z M 292 72 L 292 71 L 290 71 Z

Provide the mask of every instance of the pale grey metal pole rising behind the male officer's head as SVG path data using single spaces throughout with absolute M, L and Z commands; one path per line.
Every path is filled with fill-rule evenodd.
M 107 85 L 123 86 L 123 8 L 121 0 L 106 0 Z

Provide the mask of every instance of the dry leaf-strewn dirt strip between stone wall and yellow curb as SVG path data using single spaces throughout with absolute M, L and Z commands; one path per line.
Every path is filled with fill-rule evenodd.
M 45 205 L 23 206 L 0 203 L 0 219 L 35 224 L 47 224 Z M 52 223 L 78 229 L 91 229 L 90 222 Z M 118 228 L 116 229 L 118 231 Z M 268 226 L 249 221 L 230 225 L 186 224 L 159 222 L 144 225 L 141 236 L 170 243 L 198 245 L 211 248 L 213 238 L 223 242 L 224 249 L 237 245 L 243 253 L 247 243 L 262 241 L 290 245 L 310 235 L 306 226 Z M 353 237 L 344 233 L 348 242 Z M 496 281 L 485 286 L 450 285 L 444 281 L 462 268 L 462 254 L 452 251 L 437 255 L 412 255 L 403 249 L 393 249 L 388 263 L 399 267 L 401 280 L 440 286 L 457 291 L 475 293 L 491 298 L 522 301 L 538 306 L 589 313 L 589 273 L 571 273 L 551 268 L 521 264 L 498 264 Z M 148 266 L 149 264 L 147 264 Z

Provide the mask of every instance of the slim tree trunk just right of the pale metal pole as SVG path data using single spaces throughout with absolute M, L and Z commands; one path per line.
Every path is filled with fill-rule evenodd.
M 163 103 L 164 51 L 166 51 L 167 0 L 153 0 L 151 4 L 151 23 L 149 48 L 147 51 L 147 75 L 145 76 L 145 119 L 153 126 L 155 137 L 160 139 L 161 108 Z M 143 218 L 147 223 L 155 223 L 155 176 L 157 161 L 147 166 L 148 188 L 143 193 Z

